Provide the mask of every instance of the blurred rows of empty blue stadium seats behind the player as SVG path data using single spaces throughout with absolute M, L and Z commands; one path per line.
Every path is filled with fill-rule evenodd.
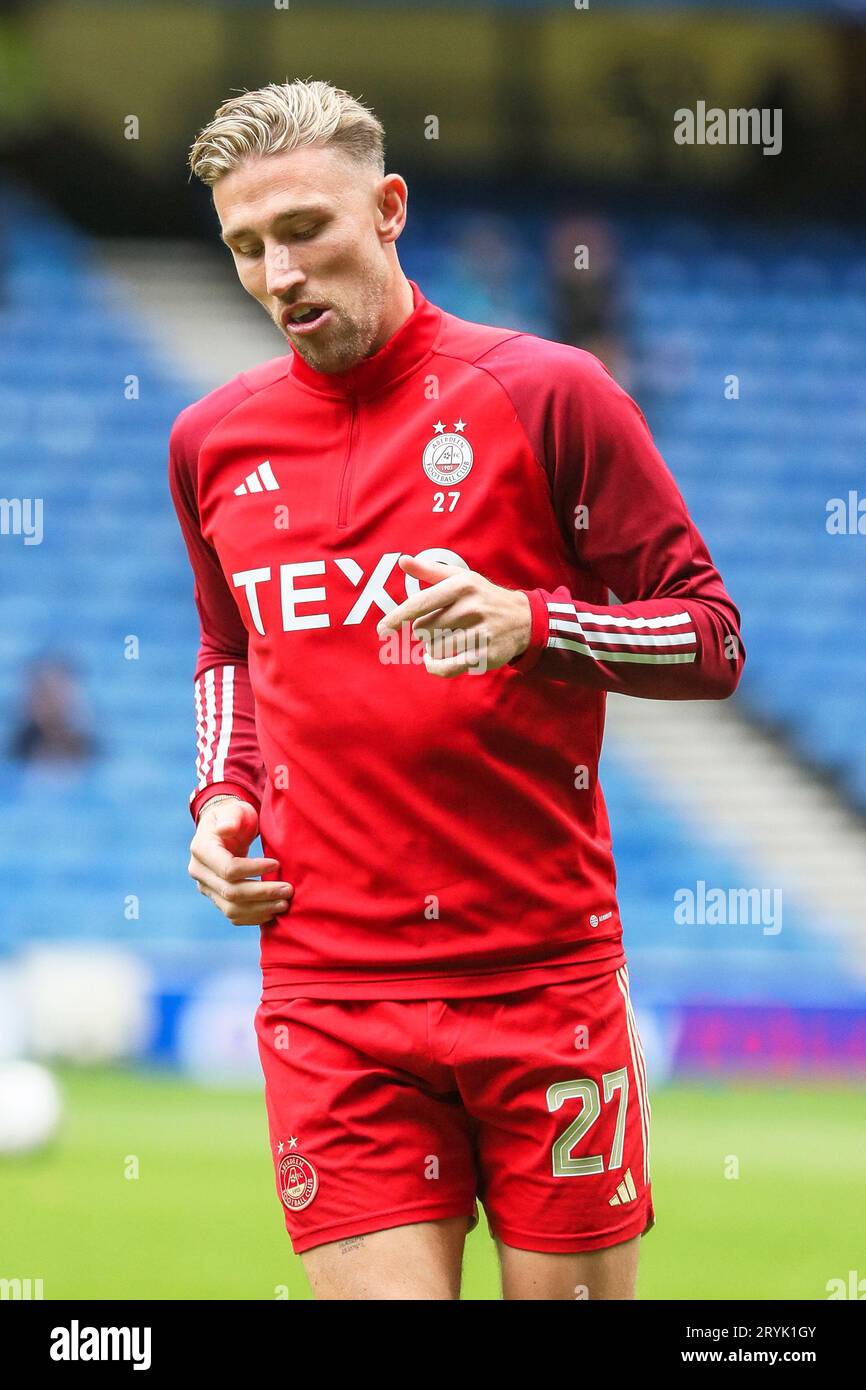
M 165 446 L 197 392 L 152 350 L 133 299 L 118 307 L 85 239 L 19 197 L 14 225 L 0 309 L 0 492 L 43 499 L 44 535 L 40 545 L 0 537 L 0 737 L 28 663 L 47 653 L 81 670 L 99 746 L 76 771 L 1 764 L 0 949 L 111 940 L 140 949 L 165 980 L 254 962 L 256 933 L 228 927 L 185 873 L 196 619 Z M 517 225 L 516 264 L 531 271 L 538 229 Z M 744 612 L 738 708 L 866 808 L 866 541 L 826 527 L 828 499 L 862 478 L 866 257 L 830 231 L 780 246 L 776 234 L 659 221 L 624 222 L 621 238 L 632 389 Z M 487 317 L 489 299 L 470 295 L 452 245 L 448 220 L 423 222 L 407 239 L 407 271 L 445 307 Z M 516 327 L 544 331 L 544 286 L 512 307 Z M 731 377 L 738 399 L 726 399 Z M 616 746 L 605 790 L 645 994 L 862 997 L 842 945 L 816 935 L 796 902 L 773 938 L 673 927 L 678 885 L 748 883 L 742 865 Z

